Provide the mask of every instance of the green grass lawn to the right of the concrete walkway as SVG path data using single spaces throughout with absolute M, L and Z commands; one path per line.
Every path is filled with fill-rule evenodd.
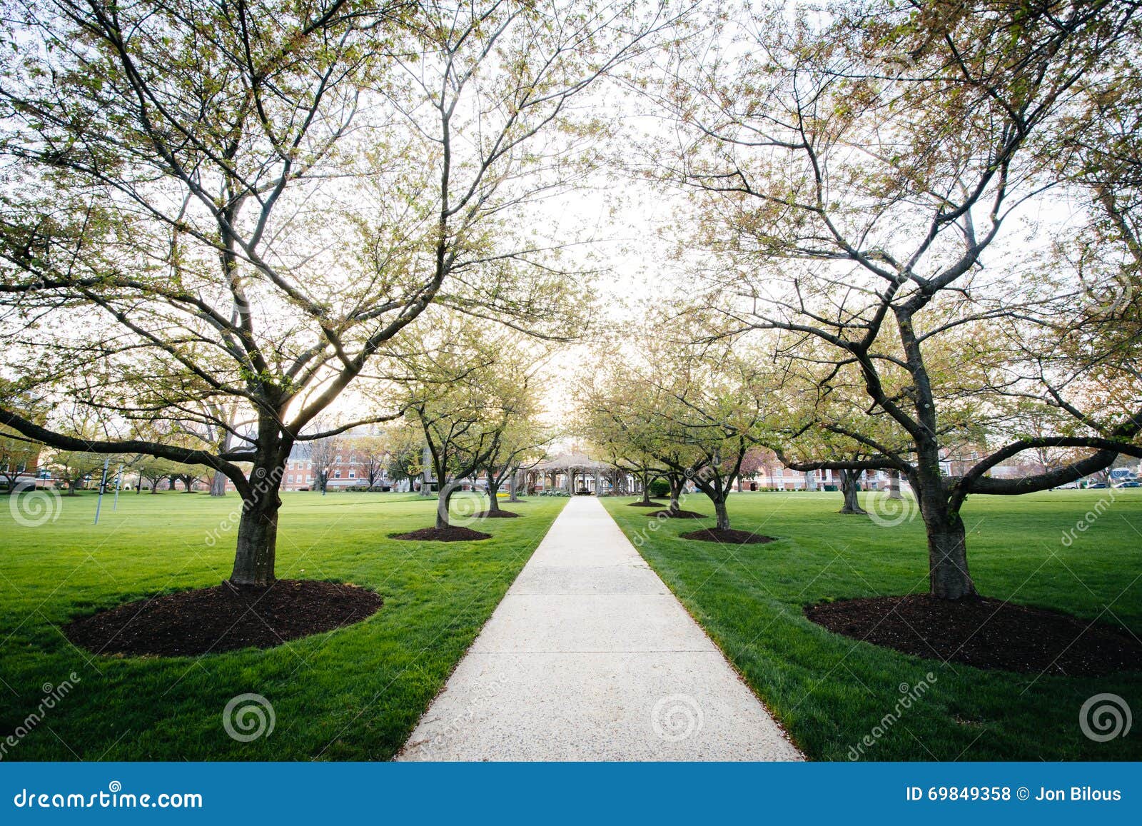
M 1107 490 L 972 497 L 968 560 L 988 596 L 1118 624 L 1142 636 L 1142 489 L 1115 490 L 1085 532 L 1077 520 Z M 867 496 L 867 495 L 862 495 Z M 678 534 L 682 521 L 648 530 L 630 499 L 604 499 L 646 561 L 706 628 L 746 681 L 815 760 L 1140 760 L 1142 672 L 1060 677 L 980 671 L 920 659 L 833 634 L 805 619 L 821 600 L 927 591 L 924 529 L 842 515 L 839 494 L 740 494 L 734 528 L 780 540 L 725 546 Z M 700 495 L 686 510 L 713 515 Z M 1064 531 L 1073 537 L 1063 543 Z M 1081 644 L 1081 641 L 1076 644 Z M 922 699 L 884 725 L 908 690 L 935 677 Z M 1092 695 L 1125 698 L 1126 737 L 1095 743 L 1079 729 Z M 874 729 L 884 732 L 876 737 Z M 870 736 L 863 753 L 851 752 Z

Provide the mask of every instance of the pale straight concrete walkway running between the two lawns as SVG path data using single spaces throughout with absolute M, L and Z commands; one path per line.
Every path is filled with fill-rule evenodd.
M 397 760 L 801 760 L 619 530 L 578 496 Z

